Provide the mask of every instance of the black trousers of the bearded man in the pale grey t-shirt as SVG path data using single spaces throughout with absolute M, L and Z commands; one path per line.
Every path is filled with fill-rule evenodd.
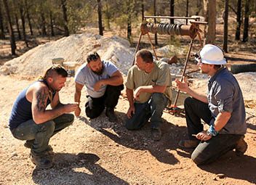
M 99 98 L 93 98 L 87 96 L 87 102 L 85 104 L 85 113 L 89 118 L 97 118 L 105 107 L 114 109 L 119 101 L 121 90 L 124 89 L 124 85 L 120 86 L 107 86 L 105 94 Z

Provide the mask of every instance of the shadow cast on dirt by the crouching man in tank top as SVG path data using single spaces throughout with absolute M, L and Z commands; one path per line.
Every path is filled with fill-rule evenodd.
M 48 170 L 35 168 L 35 184 L 128 184 L 97 164 L 100 157 L 94 154 L 56 153 L 55 165 Z

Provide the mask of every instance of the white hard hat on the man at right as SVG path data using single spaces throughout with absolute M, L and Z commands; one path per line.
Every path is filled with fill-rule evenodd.
M 199 62 L 199 59 L 201 59 L 201 62 L 204 64 L 224 65 L 227 63 L 223 51 L 218 46 L 212 44 L 206 44 L 199 52 L 199 57 L 196 61 Z

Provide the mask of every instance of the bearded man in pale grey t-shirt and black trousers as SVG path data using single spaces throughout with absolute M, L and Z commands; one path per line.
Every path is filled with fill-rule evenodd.
M 121 90 L 124 89 L 123 77 L 116 66 L 110 61 L 102 61 L 96 52 L 89 54 L 87 63 L 79 67 L 75 81 L 75 102 L 80 103 L 81 89 L 87 87 L 87 117 L 97 118 L 106 107 L 105 115 L 111 122 L 116 122 L 113 110 L 118 103 Z M 80 112 L 79 107 L 75 115 L 79 116 Z

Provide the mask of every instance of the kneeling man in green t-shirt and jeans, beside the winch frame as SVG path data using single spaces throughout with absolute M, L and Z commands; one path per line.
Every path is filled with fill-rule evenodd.
M 153 55 L 146 49 L 137 52 L 135 64 L 129 69 L 126 82 L 129 110 L 125 126 L 129 130 L 136 130 L 151 118 L 152 139 L 159 141 L 161 115 L 172 98 L 169 65 L 153 61 Z

